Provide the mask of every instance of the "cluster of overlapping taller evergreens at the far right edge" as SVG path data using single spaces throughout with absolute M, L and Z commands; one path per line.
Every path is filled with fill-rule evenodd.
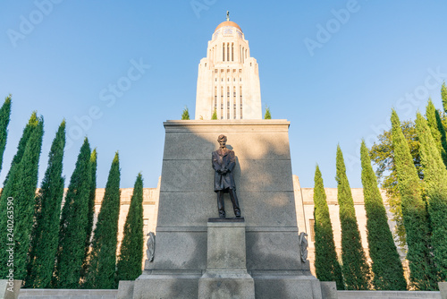
M 447 169 L 443 146 L 436 142 L 438 132 L 443 133 L 445 140 L 441 126 L 442 130 L 434 134 L 426 118 L 417 112 L 416 130 L 424 175 L 420 180 L 399 117 L 392 111 L 392 146 L 409 248 L 409 278 L 415 288 L 423 290 L 434 290 L 437 281 L 447 278 Z

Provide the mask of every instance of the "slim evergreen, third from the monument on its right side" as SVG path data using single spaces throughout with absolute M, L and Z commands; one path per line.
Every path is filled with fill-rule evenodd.
M 403 268 L 399 253 L 392 238 L 384 202 L 377 187 L 377 179 L 365 141 L 360 148 L 362 165 L 362 184 L 367 211 L 367 241 L 371 268 L 374 273 L 373 285 L 376 290 L 405 290 L 407 281 L 403 276 Z

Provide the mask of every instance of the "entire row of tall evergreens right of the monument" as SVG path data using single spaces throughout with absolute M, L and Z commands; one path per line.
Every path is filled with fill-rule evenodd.
M 447 113 L 447 88 L 441 90 Z M 379 161 L 379 175 L 390 170 L 384 181 L 392 202 L 399 198 L 401 222 L 408 246 L 409 288 L 436 290 L 438 281 L 447 278 L 447 137 L 445 115 L 434 108 L 431 99 L 426 118 L 417 113 L 414 133 L 411 125 L 401 124 L 392 110 L 392 130 L 379 136 L 381 147 L 374 146 L 371 155 Z M 406 130 L 406 131 L 402 131 Z M 404 135 L 404 132 L 407 134 Z M 404 290 L 407 282 L 377 179 L 371 167 L 370 153 L 364 141 L 361 149 L 362 184 L 367 212 L 367 241 L 371 268 L 367 264 L 358 233 L 350 186 L 340 147 L 337 148 L 338 201 L 342 226 L 342 266 L 337 260 L 329 209 L 321 172 L 315 176 L 315 248 L 316 276 L 324 281 L 336 281 L 338 289 Z M 390 183 L 391 182 L 391 183 Z M 391 191 L 390 191 L 391 190 Z M 398 196 L 395 196 L 395 190 Z M 397 209 L 396 209 L 397 208 Z M 401 229 L 400 229 L 401 231 Z M 342 270 L 341 270 L 342 269 Z

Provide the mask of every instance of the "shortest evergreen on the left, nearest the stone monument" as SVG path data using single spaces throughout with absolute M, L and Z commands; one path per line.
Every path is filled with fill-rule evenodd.
M 124 236 L 116 270 L 118 282 L 135 280 L 141 275 L 143 244 L 143 179 L 139 174 L 133 186 L 131 207 L 124 224 Z

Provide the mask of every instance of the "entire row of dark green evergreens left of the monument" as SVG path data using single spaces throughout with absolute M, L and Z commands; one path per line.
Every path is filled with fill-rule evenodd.
M 0 109 L 0 167 L 11 104 L 9 96 Z M 92 234 L 97 150 L 91 151 L 88 139 L 84 140 L 63 198 L 63 121 L 55 134 L 46 173 L 36 194 L 43 129 L 43 118 L 33 112 L 4 180 L 0 226 L 7 230 L 0 231 L 0 278 L 13 275 L 14 279 L 24 280 L 26 287 L 40 288 L 115 288 L 119 280 L 138 278 L 144 242 L 141 174 L 133 189 L 121 254 L 116 259 L 120 210 L 118 153 L 112 162 Z

